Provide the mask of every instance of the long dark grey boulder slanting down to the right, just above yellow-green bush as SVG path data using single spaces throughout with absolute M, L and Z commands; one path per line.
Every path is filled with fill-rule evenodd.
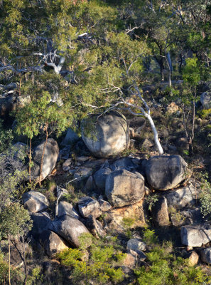
M 67 214 L 55 219 L 51 223 L 50 230 L 63 237 L 73 247 L 80 246 L 80 235 L 89 233 L 82 222 Z M 87 244 L 89 246 L 90 244 Z

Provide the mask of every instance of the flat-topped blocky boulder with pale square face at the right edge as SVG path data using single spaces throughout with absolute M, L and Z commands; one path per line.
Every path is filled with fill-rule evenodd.
M 188 247 L 201 247 L 211 241 L 210 224 L 193 224 L 181 228 L 182 244 Z

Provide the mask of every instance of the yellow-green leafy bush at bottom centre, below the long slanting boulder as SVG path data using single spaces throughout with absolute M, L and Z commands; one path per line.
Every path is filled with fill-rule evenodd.
M 87 247 L 87 241 L 90 246 L 90 254 L 84 249 Z M 70 267 L 72 278 L 75 282 L 88 284 L 106 284 L 108 281 L 112 284 L 118 284 L 124 277 L 121 268 L 115 266 L 124 259 L 124 254 L 119 251 L 117 245 L 114 246 L 114 240 L 103 239 L 102 241 L 94 239 L 91 235 L 81 237 L 80 249 L 67 249 L 60 254 L 58 258 L 65 266 Z

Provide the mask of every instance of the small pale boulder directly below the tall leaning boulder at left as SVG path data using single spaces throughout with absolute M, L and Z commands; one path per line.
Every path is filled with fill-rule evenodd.
M 48 208 L 48 199 L 40 192 L 29 191 L 25 192 L 22 196 L 23 205 L 29 212 L 37 213 L 44 211 Z

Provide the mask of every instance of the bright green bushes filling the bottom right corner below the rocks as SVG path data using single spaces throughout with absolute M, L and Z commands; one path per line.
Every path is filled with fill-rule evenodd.
M 153 231 L 149 229 L 144 235 L 149 237 L 145 241 L 151 246 L 151 251 L 146 253 L 147 265 L 134 270 L 139 285 L 209 284 L 210 276 L 203 273 L 200 267 L 190 267 L 188 261 L 175 257 L 169 242 L 158 244 Z

